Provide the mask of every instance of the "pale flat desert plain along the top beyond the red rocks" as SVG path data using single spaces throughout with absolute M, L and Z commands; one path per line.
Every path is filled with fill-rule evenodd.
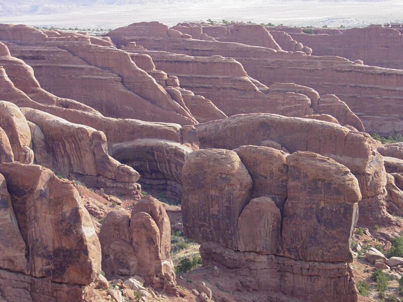
M 403 0 L 147 0 L 142 4 L 93 5 L 66 11 L 62 14 L 0 17 L 0 23 L 116 28 L 140 21 L 158 20 L 172 26 L 182 21 L 209 18 L 215 21 L 272 22 L 276 25 L 326 24 L 329 27 L 403 22 Z

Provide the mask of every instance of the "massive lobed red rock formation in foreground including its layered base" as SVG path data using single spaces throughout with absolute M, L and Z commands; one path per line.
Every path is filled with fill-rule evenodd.
M 224 149 L 185 157 L 183 225 L 201 244 L 204 265 L 233 269 L 243 287 L 280 295 L 280 300 L 356 301 L 346 262 L 352 261 L 350 241 L 361 193 L 350 170 L 310 152 L 286 157 L 280 150 L 253 145 L 235 151 L 239 157 Z M 284 194 L 284 209 L 270 197 L 249 201 L 249 195 L 260 193 Z M 237 229 L 232 231 L 232 225 Z M 310 266 L 314 272 L 303 273 Z M 314 289 L 318 279 L 320 291 Z

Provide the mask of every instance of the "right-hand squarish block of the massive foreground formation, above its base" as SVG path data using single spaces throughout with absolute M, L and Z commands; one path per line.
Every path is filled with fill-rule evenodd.
M 347 167 L 309 152 L 288 156 L 287 165 L 285 255 L 305 261 L 352 262 L 350 240 L 361 200 L 357 179 Z

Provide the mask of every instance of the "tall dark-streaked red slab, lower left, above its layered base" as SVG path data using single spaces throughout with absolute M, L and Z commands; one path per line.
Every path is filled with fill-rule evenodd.
M 100 272 L 101 251 L 90 215 L 73 185 L 36 165 L 3 163 L 0 173 L 27 244 L 27 273 L 56 282 L 90 284 Z

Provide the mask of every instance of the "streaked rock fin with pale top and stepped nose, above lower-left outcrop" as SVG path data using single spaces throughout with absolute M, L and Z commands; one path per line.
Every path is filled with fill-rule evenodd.
M 65 176 L 82 178 L 96 187 L 140 196 L 140 185 L 136 183 L 139 173 L 108 155 L 103 132 L 39 110 L 25 108 L 23 111 L 41 129 L 47 153 L 52 158 L 50 163 L 39 164 Z

